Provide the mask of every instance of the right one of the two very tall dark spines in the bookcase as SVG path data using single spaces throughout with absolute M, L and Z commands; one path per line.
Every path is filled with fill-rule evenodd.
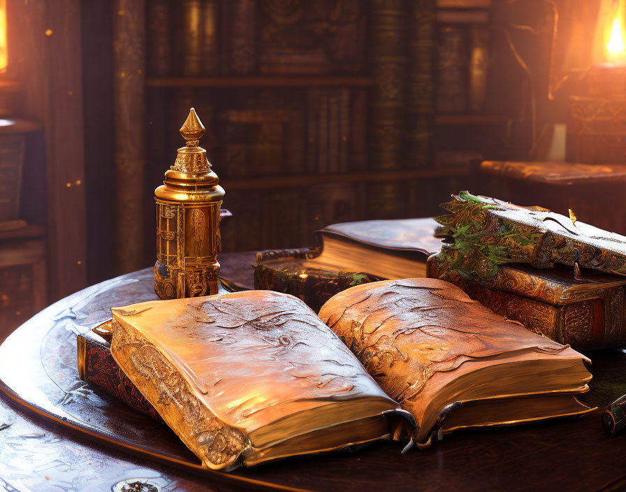
M 409 167 L 432 165 L 435 118 L 435 64 L 437 57 L 437 6 L 435 0 L 413 3 L 409 52 L 407 105 L 407 163 Z

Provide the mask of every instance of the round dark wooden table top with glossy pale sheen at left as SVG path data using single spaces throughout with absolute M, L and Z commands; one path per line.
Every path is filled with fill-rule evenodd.
M 225 254 L 222 273 L 252 275 L 252 258 Z M 0 492 L 122 491 L 132 482 L 159 492 L 626 489 L 626 433 L 607 437 L 597 414 L 459 431 L 407 456 L 400 455 L 401 444 L 379 442 L 352 454 L 289 458 L 231 473 L 185 468 L 194 456 L 166 426 L 80 382 L 75 368 L 75 333 L 105 319 L 111 306 L 154 299 L 152 282 L 146 269 L 89 287 L 46 308 L 0 346 Z M 594 379 L 585 401 L 606 405 L 626 393 L 626 354 L 589 355 Z M 141 445 L 165 451 L 150 456 L 138 451 Z

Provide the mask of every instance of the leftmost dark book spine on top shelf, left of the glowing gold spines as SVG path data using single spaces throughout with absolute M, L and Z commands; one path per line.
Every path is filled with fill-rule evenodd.
M 172 73 L 170 1 L 152 0 L 148 3 L 148 38 L 150 40 L 151 75 Z

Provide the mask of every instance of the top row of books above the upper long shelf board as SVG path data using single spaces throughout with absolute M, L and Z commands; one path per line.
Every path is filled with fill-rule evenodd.
M 151 75 L 324 75 L 364 68 L 360 0 L 151 0 Z

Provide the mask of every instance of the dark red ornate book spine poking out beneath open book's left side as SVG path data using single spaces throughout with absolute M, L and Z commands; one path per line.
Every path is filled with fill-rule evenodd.
M 131 380 L 119 368 L 109 347 L 78 335 L 78 375 L 82 381 L 95 384 L 126 403 L 129 407 L 163 421 Z

